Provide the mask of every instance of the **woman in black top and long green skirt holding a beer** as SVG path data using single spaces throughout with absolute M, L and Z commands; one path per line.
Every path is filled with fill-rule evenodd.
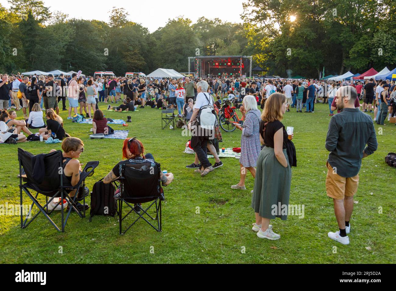
M 286 111 L 286 96 L 272 93 L 265 103 L 260 122 L 260 141 L 265 145 L 257 158 L 256 179 L 251 207 L 256 222 L 252 230 L 259 238 L 278 240 L 270 219 L 287 219 L 291 167 L 287 156 L 287 133 L 281 120 Z M 293 138 L 293 136 L 291 137 Z M 286 210 L 286 211 L 285 211 Z

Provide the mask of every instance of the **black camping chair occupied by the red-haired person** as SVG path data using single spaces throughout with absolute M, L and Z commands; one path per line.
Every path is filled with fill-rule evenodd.
M 155 162 L 154 162 L 155 163 Z M 133 224 L 135 224 L 140 218 L 144 219 L 152 228 L 156 231 L 162 231 L 162 212 L 161 212 L 161 201 L 164 200 L 164 191 L 161 187 L 160 180 L 160 172 L 161 167 L 160 164 L 155 163 L 155 166 L 152 167 L 150 162 L 142 163 L 142 164 L 124 164 L 122 165 L 120 177 L 116 181 L 120 181 L 120 189 L 121 189 L 121 198 L 118 200 L 118 215 L 120 221 L 120 234 L 125 234 L 129 228 Z M 116 182 L 114 181 L 114 184 Z M 116 184 L 116 187 L 118 185 Z M 122 217 L 122 204 L 125 202 L 131 210 Z M 140 207 L 140 203 L 151 202 L 150 205 L 143 209 Z M 140 211 L 137 211 L 133 207 L 133 204 L 136 204 L 136 207 L 139 207 Z M 153 218 L 150 214 L 147 213 L 148 209 L 152 205 L 155 204 L 156 208 L 156 217 Z M 139 217 L 133 221 L 131 225 L 126 228 L 125 231 L 122 231 L 122 221 L 131 213 L 135 211 Z M 139 213 L 141 212 L 141 213 Z M 157 227 L 150 223 L 143 215 L 148 215 L 151 220 L 157 221 Z

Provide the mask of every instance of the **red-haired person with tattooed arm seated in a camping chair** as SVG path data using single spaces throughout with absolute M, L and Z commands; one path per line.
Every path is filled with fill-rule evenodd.
M 117 180 L 120 177 L 121 169 L 123 164 L 141 164 L 145 162 L 151 163 L 154 167 L 154 157 L 152 154 L 144 154 L 144 147 L 139 139 L 133 137 L 131 139 L 127 138 L 124 140 L 124 145 L 122 146 L 122 161 L 118 162 L 113 169 L 103 178 L 103 183 L 110 184 L 112 181 Z M 127 160 L 124 160 L 127 159 Z M 169 185 L 173 181 L 173 174 L 164 174 L 160 171 L 160 179 L 163 186 Z M 118 200 L 121 198 L 120 188 L 118 188 L 114 194 L 114 199 Z M 140 211 L 141 206 L 135 204 L 135 210 Z

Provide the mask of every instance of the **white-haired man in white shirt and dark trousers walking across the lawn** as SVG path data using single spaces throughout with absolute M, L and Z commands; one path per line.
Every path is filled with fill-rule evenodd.
M 191 129 L 191 147 L 194 149 L 200 161 L 200 169 L 195 171 L 201 173 L 201 176 L 207 175 L 209 172 L 213 171 L 212 164 L 208 160 L 208 153 L 206 148 L 208 147 L 208 140 L 213 139 L 214 135 L 210 134 L 208 130 L 197 130 L 198 126 L 196 123 L 196 118 L 201 107 L 206 105 L 213 106 L 212 97 L 206 93 L 208 92 L 208 83 L 206 81 L 200 81 L 197 83 L 196 102 L 193 107 L 193 112 L 190 121 L 188 122 L 188 128 Z M 194 127 L 194 128 L 192 128 Z M 210 135 L 210 136 L 209 136 Z

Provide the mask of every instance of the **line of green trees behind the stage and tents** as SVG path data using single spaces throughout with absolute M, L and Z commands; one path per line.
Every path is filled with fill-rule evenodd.
M 253 66 L 279 76 L 393 68 L 392 1 L 247 0 L 243 23 L 178 17 L 150 33 L 123 8 L 109 11 L 107 22 L 89 21 L 50 12 L 40 0 L 13 0 L 10 9 L 0 4 L 0 71 L 187 72 L 197 48 L 200 55 L 253 55 Z

